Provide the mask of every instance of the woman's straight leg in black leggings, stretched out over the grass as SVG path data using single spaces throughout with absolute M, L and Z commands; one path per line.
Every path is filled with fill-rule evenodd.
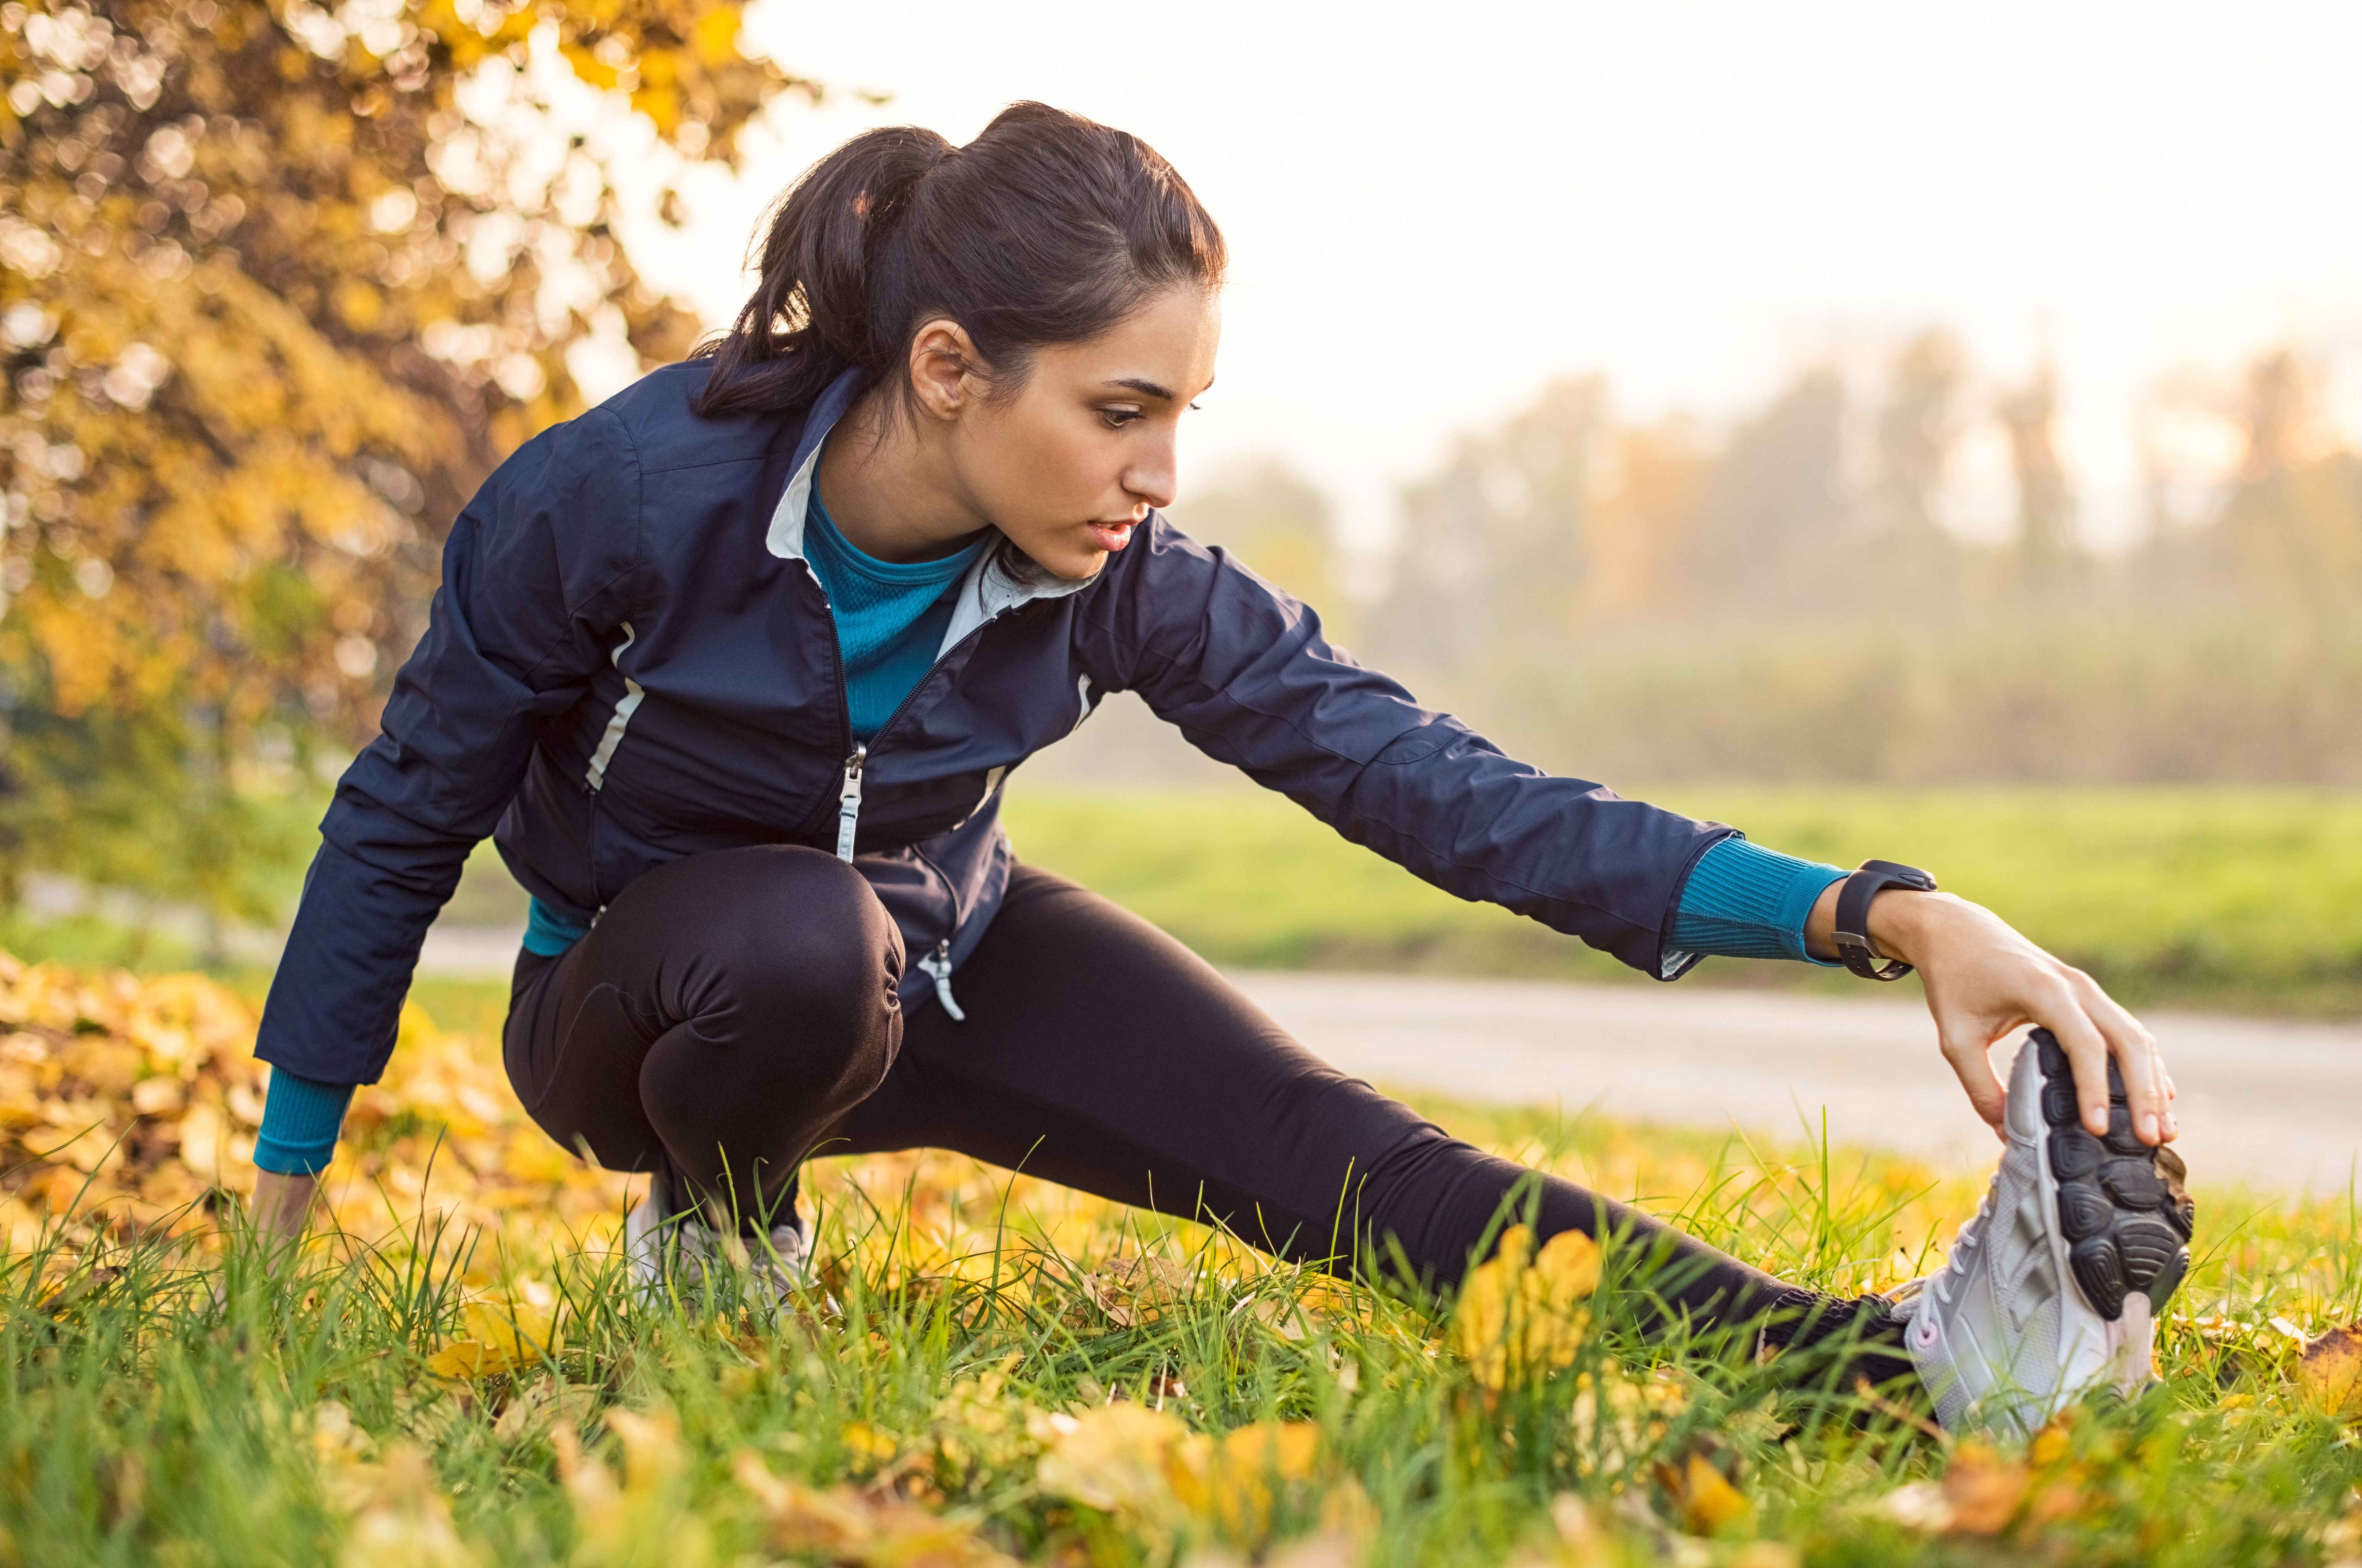
M 1349 1266 L 1363 1247 L 1455 1285 L 1505 1200 L 1535 1230 L 1623 1233 L 1694 1322 L 1819 1299 L 1696 1237 L 1486 1155 L 1337 1072 L 1155 926 L 1018 867 L 959 968 L 966 1023 L 909 1018 L 902 1056 L 815 1152 L 952 1148 Z M 1630 1252 L 1627 1252 L 1630 1256 Z

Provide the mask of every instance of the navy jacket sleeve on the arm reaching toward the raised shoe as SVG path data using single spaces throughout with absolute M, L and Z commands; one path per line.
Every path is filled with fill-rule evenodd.
M 1682 883 L 1731 829 L 1516 763 L 1330 647 L 1320 616 L 1153 517 L 1079 595 L 1091 680 L 1134 690 L 1207 756 L 1464 900 L 1672 980 Z

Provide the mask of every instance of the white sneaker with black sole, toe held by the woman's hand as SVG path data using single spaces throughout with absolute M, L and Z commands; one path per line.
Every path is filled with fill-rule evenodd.
M 2180 1155 L 2133 1136 L 2114 1063 L 2107 1086 L 2107 1138 L 2093 1138 L 2067 1053 L 2034 1030 L 1977 1219 L 1923 1289 L 1897 1292 L 1946 1431 L 2029 1436 L 2086 1389 L 2133 1393 L 2154 1377 L 2154 1322 L 2190 1268 L 2194 1207 Z

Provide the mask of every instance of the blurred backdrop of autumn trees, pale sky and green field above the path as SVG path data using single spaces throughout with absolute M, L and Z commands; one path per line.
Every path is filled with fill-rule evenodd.
M 267 971 L 482 477 L 723 326 L 822 151 L 1035 97 L 1226 224 L 1174 515 L 1358 656 L 2135 1001 L 2362 1015 L 2357 57 L 2338 5 L 9 0 L 0 945 Z M 1009 812 L 1224 963 L 1616 978 L 1131 699 Z M 432 963 L 520 923 L 479 852 Z

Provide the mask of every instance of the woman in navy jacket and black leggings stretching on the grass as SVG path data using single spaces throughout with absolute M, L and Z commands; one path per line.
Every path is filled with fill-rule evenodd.
M 1911 878 L 1509 760 L 1179 534 L 1157 508 L 1214 380 L 1221 276 L 1212 217 L 1134 137 L 1039 104 L 961 149 L 879 130 L 787 194 L 727 338 L 517 451 L 451 529 L 385 734 L 324 822 L 257 1046 L 267 1221 L 302 1223 L 494 834 L 534 895 L 510 1077 L 560 1143 L 654 1171 L 642 1278 L 666 1235 L 711 1259 L 739 1230 L 784 1280 L 808 1152 L 938 1145 L 1446 1287 L 1519 1190 L 1540 1235 L 1658 1247 L 1691 1325 L 1842 1327 L 1871 1372 L 1908 1355 L 1949 1422 L 2145 1374 L 2178 1280 L 2152 1230 L 2178 1256 L 2187 1214 L 2149 1190 L 2173 1119 L 2140 1025 Z M 1176 942 L 1011 857 L 1009 770 L 1120 690 L 1346 838 L 1665 980 L 1708 952 L 1831 956 L 1845 914 L 1857 966 L 1925 973 L 2010 1143 L 1996 1202 L 2031 1230 L 1979 1226 L 1916 1301 L 1831 1301 L 1332 1072 Z M 2022 1053 L 2005 1096 L 1984 1053 L 2024 1023 L 2062 1048 Z

